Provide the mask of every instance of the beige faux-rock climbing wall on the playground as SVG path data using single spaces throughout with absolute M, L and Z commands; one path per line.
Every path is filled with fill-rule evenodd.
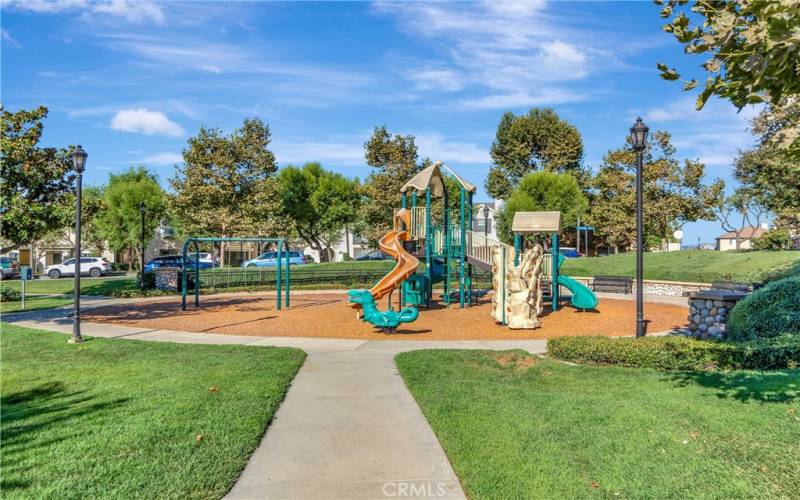
M 505 254 L 505 258 L 504 258 Z M 505 260 L 505 262 L 503 262 Z M 512 329 L 539 327 L 542 313 L 542 276 L 544 249 L 541 245 L 525 250 L 514 265 L 513 249 L 495 247 L 492 251 L 492 317 Z M 505 270 L 505 273 L 504 273 Z M 505 315 L 504 313 L 505 309 Z

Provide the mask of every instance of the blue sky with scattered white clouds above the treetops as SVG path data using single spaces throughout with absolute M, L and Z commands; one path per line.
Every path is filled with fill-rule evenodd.
M 652 2 L 215 3 L 2 0 L 2 102 L 49 107 L 44 144 L 81 143 L 87 180 L 146 165 L 162 183 L 201 125 L 258 116 L 279 163 L 321 161 L 364 178 L 376 125 L 414 134 L 420 155 L 480 186 L 504 111 L 552 107 L 596 168 L 641 115 L 679 157 L 730 181 L 753 143 L 727 102 L 658 77 L 704 77 L 661 31 Z M 715 222 L 688 224 L 685 244 Z

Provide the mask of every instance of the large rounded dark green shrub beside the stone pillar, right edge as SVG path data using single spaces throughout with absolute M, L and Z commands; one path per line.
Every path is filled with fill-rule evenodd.
M 740 300 L 728 318 L 730 340 L 800 336 L 800 276 L 773 281 Z

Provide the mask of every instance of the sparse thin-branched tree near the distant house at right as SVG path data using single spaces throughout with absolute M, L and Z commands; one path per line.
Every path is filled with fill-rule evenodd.
M 717 179 L 709 186 L 706 199 L 722 229 L 736 235 L 736 250 L 741 247 L 741 235 L 745 228 L 758 227 L 766 213 L 758 198 L 747 188 L 739 188 L 733 195 L 726 197 L 725 181 L 722 179 Z

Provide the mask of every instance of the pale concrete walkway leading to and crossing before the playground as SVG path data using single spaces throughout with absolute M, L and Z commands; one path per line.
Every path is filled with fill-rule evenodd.
M 87 304 L 86 309 L 99 302 Z M 3 315 L 70 333 L 69 308 Z M 86 336 L 296 347 L 308 353 L 228 498 L 465 498 L 439 441 L 394 364 L 418 349 L 524 349 L 546 341 L 363 341 L 252 337 L 83 323 Z

